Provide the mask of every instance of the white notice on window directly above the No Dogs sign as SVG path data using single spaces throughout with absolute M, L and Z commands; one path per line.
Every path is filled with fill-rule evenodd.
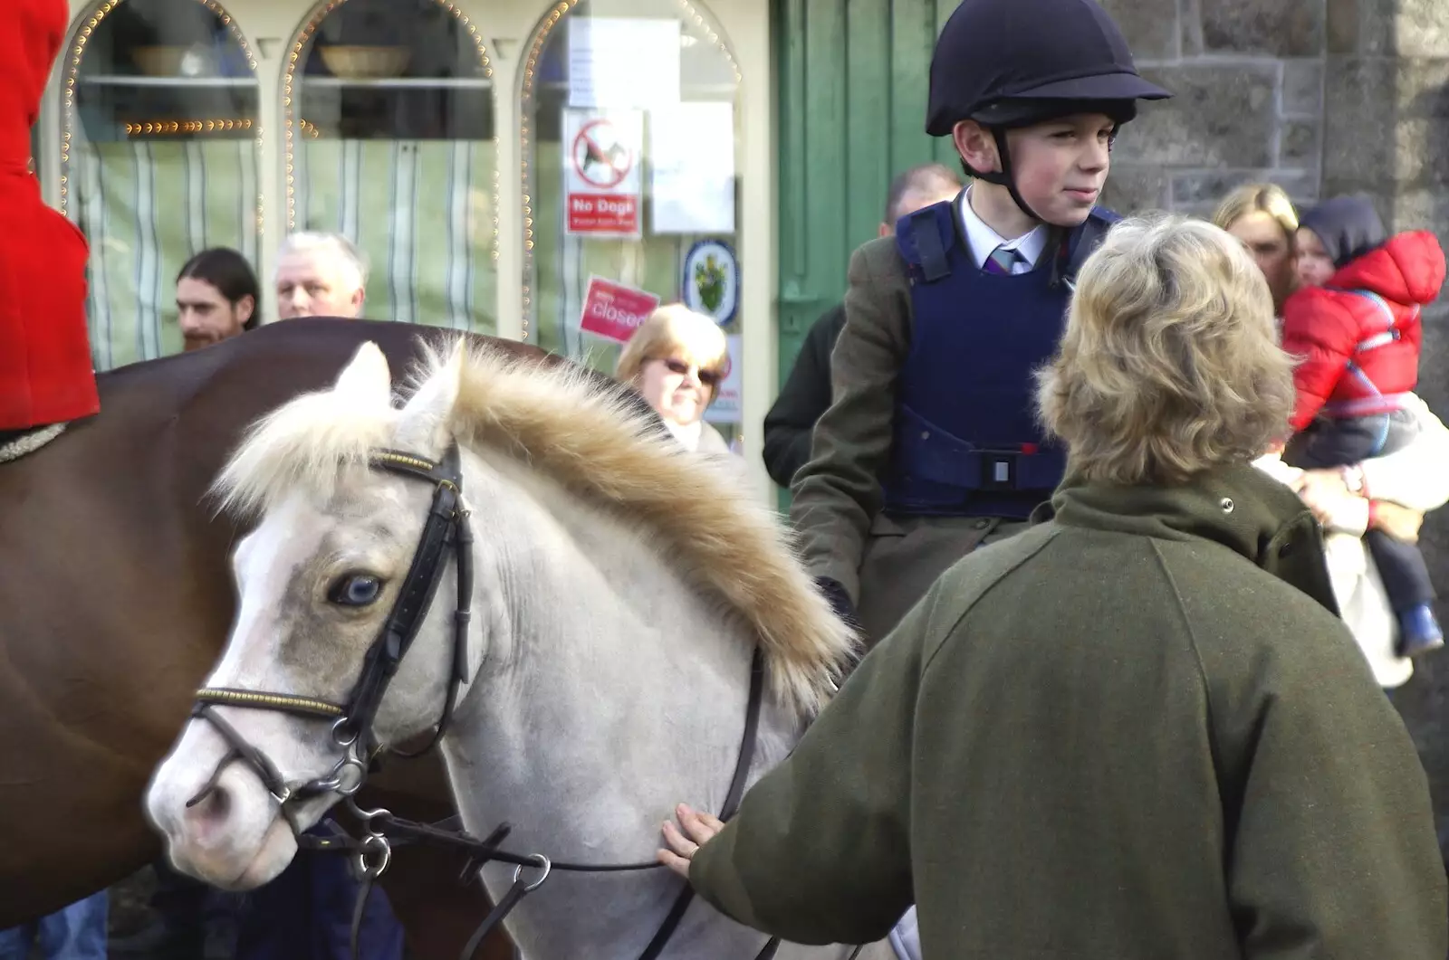
M 678 101 L 678 20 L 569 17 L 568 106 L 645 110 Z

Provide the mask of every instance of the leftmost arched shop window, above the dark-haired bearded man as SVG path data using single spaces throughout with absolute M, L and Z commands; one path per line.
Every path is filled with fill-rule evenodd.
M 107 0 L 62 62 L 61 209 L 90 242 L 96 366 L 178 352 L 185 261 L 258 264 L 256 61 L 212 0 Z

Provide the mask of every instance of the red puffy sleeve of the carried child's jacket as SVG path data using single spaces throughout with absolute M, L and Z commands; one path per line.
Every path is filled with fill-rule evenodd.
M 1293 385 L 1298 401 L 1293 410 L 1294 430 L 1303 430 L 1333 395 L 1358 346 L 1358 321 L 1349 310 L 1323 290 L 1301 290 L 1282 310 L 1282 349 L 1298 359 Z

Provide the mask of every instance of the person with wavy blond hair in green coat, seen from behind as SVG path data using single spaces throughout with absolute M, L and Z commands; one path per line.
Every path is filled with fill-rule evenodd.
M 1051 505 L 948 570 L 729 825 L 681 807 L 661 860 L 800 943 L 914 902 L 929 959 L 1443 960 L 1424 770 L 1313 515 L 1250 465 L 1291 384 L 1236 240 L 1114 227 L 1039 376 Z

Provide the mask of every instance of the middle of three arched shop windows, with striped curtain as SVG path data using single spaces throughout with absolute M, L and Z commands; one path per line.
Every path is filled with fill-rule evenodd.
M 332 0 L 290 51 L 287 227 L 368 258 L 367 316 L 497 332 L 493 68 L 438 0 Z

